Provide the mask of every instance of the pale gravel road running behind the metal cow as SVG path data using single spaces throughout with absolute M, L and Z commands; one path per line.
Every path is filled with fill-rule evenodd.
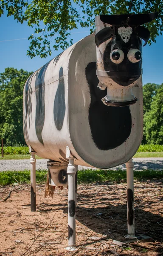
M 154 169 L 162 170 L 163 169 L 163 157 L 148 157 L 148 158 L 133 158 L 135 163 L 135 170 L 143 169 Z M 37 159 L 36 168 L 37 169 L 46 169 L 47 159 Z M 0 160 L 0 172 L 1 171 L 18 171 L 30 169 L 30 163 L 28 159 L 24 160 Z M 79 169 L 87 169 L 87 167 L 79 166 Z M 125 169 L 125 164 L 112 168 Z

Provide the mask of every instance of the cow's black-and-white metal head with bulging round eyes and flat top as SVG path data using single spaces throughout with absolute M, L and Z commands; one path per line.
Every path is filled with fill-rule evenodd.
M 132 87 L 142 76 L 142 39 L 145 46 L 150 32 L 141 26 L 158 13 L 100 15 L 96 17 L 98 87 L 107 87 L 105 105 L 129 106 L 137 101 Z

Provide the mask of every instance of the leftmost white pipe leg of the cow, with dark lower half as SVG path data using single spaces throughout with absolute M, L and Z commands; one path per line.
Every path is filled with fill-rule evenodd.
M 36 158 L 33 152 L 31 152 L 30 166 L 31 166 L 31 212 L 36 212 Z

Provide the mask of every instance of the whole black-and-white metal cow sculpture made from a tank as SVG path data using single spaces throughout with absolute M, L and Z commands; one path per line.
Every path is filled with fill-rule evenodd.
M 146 45 L 150 37 L 141 25 L 156 17 L 100 15 L 96 35 L 73 44 L 26 81 L 31 210 L 36 210 L 36 153 L 50 159 L 50 186 L 68 185 L 70 247 L 75 245 L 77 165 L 108 169 L 127 162 L 128 236 L 135 237 L 132 157 L 143 135 L 141 39 Z

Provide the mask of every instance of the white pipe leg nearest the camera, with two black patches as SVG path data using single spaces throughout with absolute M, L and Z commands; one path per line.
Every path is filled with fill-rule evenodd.
M 76 200 L 76 166 L 74 158 L 69 158 L 67 167 L 68 177 L 68 247 L 67 250 L 75 250 L 76 244 L 76 215 L 75 215 L 75 200 Z

